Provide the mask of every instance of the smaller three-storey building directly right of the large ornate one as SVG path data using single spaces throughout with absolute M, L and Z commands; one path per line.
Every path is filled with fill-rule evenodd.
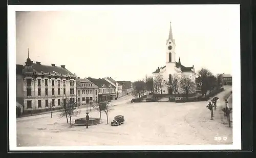
M 76 79 L 77 104 L 86 105 L 92 102 L 98 102 L 98 86 L 87 78 L 77 77 Z

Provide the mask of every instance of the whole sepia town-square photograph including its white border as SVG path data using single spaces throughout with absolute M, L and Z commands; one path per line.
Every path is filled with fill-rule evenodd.
M 8 23 L 10 149 L 241 149 L 239 5 L 11 6 Z

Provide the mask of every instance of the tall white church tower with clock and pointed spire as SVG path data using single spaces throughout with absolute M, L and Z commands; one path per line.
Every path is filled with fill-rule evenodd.
M 174 74 L 176 65 L 175 39 L 173 38 L 172 24 L 170 24 L 169 36 L 165 46 L 166 71 L 168 74 Z

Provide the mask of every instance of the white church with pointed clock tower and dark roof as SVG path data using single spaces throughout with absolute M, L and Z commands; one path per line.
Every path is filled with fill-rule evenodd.
M 155 72 L 153 72 L 153 79 L 156 76 L 162 75 L 164 82 L 168 82 L 172 80 L 172 75 L 177 74 L 179 77 L 185 75 L 186 77 L 190 78 L 192 81 L 196 81 L 196 71 L 194 65 L 191 67 L 185 67 L 181 64 L 181 60 L 176 62 L 176 52 L 175 52 L 175 39 L 173 38 L 172 32 L 172 24 L 170 24 L 169 29 L 169 37 L 166 40 L 165 44 L 165 65 L 162 67 L 158 67 Z M 161 93 L 161 92 L 159 92 Z M 158 94 L 159 94 L 158 93 Z M 172 94 L 173 91 L 171 88 L 168 88 L 166 85 L 162 88 L 162 94 Z M 180 89 L 179 89 L 179 93 Z

